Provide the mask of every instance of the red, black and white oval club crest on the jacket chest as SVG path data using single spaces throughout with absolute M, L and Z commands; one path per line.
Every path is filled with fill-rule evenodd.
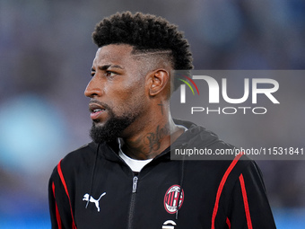
M 182 206 L 183 199 L 184 199 L 183 189 L 180 192 L 179 185 L 175 184 L 175 185 L 171 186 L 170 189 L 168 189 L 166 191 L 165 196 L 164 196 L 165 210 L 170 214 L 176 213 L 177 207 L 179 206 L 179 208 L 180 208 Z M 178 201 L 179 201 L 179 205 L 178 205 Z

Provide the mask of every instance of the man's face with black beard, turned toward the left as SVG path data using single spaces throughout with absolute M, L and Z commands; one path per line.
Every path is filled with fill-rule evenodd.
M 131 51 L 129 45 L 108 45 L 99 48 L 93 60 L 92 80 L 84 94 L 91 98 L 91 137 L 97 143 L 126 137 L 144 113 L 143 62 Z

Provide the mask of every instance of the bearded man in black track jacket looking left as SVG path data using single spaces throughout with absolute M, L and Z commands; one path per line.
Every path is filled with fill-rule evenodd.
M 179 148 L 233 148 L 170 115 L 173 69 L 192 69 L 183 33 L 151 14 L 97 24 L 92 142 L 67 154 L 49 181 L 52 228 L 275 228 L 257 164 L 170 160 Z

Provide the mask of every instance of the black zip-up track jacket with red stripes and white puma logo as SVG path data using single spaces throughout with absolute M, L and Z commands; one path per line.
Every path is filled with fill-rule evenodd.
M 175 122 L 188 130 L 171 148 L 232 148 L 205 128 Z M 90 143 L 57 164 L 48 192 L 52 228 L 275 228 L 262 176 L 246 155 L 175 161 L 169 147 L 135 175 L 118 145 Z

